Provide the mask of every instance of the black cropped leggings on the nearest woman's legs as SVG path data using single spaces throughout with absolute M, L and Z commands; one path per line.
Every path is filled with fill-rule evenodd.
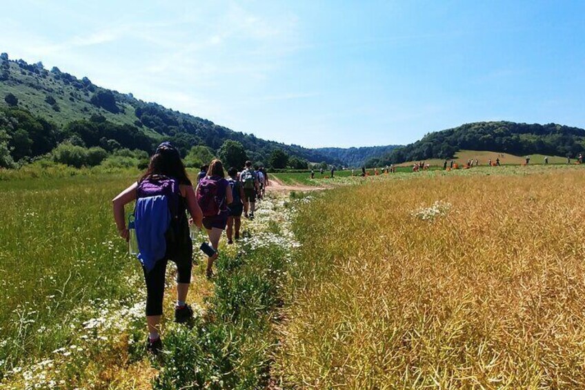
M 144 271 L 146 282 L 146 315 L 161 315 L 163 313 L 164 280 L 168 259 L 159 260 L 149 273 Z M 177 283 L 191 282 L 192 261 L 177 264 Z

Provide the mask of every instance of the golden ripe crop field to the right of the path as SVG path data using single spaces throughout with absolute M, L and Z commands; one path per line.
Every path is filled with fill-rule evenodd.
M 585 171 L 401 178 L 299 211 L 283 387 L 584 388 Z

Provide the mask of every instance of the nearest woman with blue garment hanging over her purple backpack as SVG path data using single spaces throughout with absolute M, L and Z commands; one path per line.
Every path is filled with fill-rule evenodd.
M 187 322 L 193 316 L 186 303 L 193 253 L 186 211 L 198 228 L 203 217 L 179 151 L 169 142 L 159 145 L 141 179 L 112 200 L 118 234 L 126 241 L 130 233 L 124 206 L 134 200 L 137 256 L 146 282 L 146 349 L 156 355 L 162 349 L 159 324 L 168 260 L 177 264 L 175 322 Z M 172 238 L 166 238 L 168 231 L 174 233 Z

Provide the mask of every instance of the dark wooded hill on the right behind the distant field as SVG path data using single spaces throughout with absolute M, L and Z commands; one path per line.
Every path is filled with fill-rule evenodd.
M 395 148 L 372 165 L 451 158 L 457 150 L 491 150 L 512 155 L 575 157 L 585 152 L 585 130 L 559 124 L 517 124 L 490 121 L 464 124 L 429 133 L 419 141 Z

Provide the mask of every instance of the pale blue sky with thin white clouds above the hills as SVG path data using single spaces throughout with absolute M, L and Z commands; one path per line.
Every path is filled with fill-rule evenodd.
M 258 137 L 585 127 L 585 1 L 3 3 L 0 51 Z

